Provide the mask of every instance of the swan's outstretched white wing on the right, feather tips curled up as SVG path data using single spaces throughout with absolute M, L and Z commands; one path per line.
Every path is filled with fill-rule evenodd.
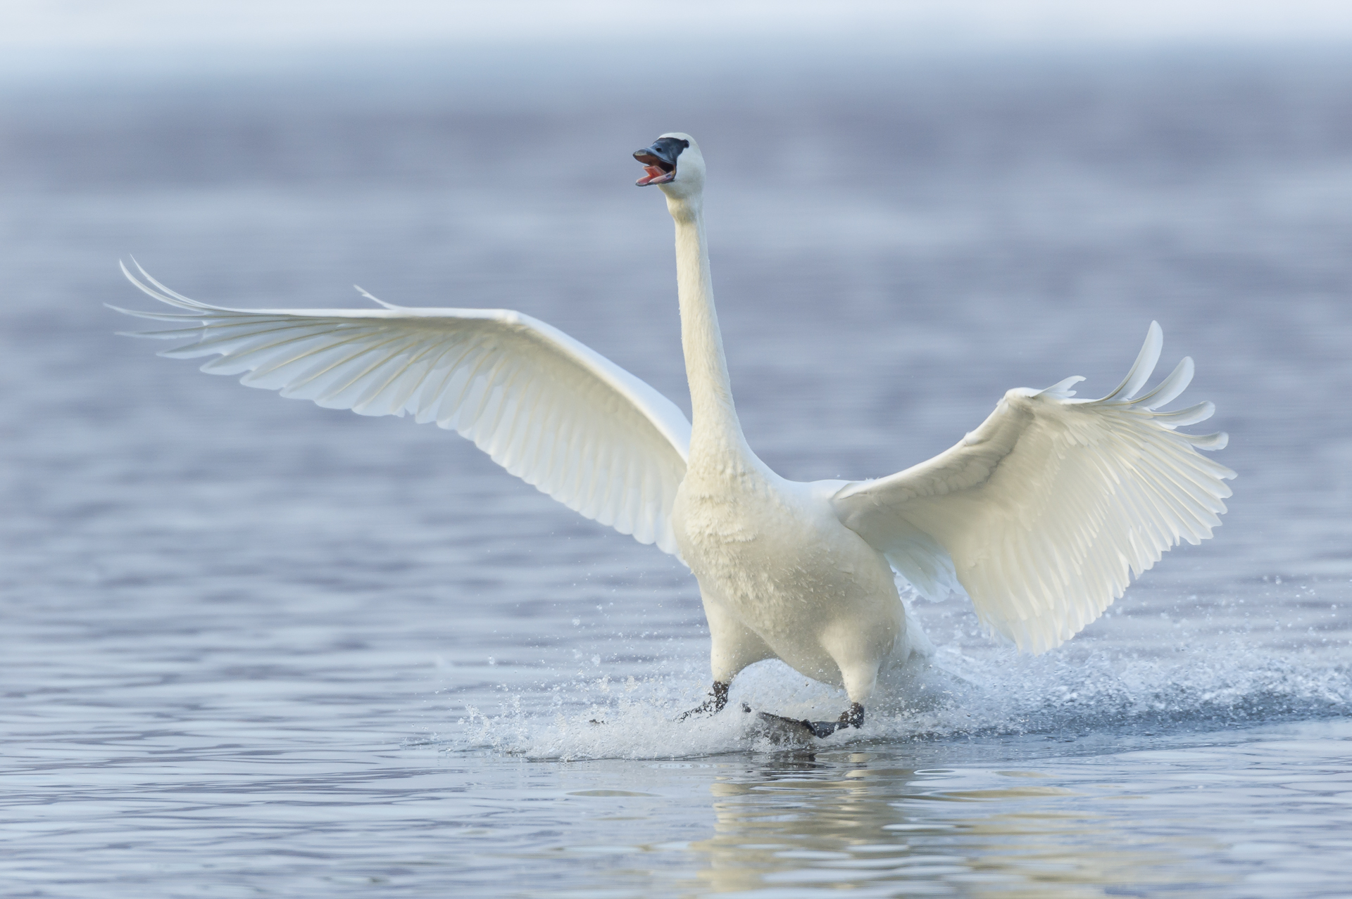
M 1156 412 L 1187 387 L 1192 360 L 1133 398 L 1161 347 L 1152 321 L 1132 371 L 1102 400 L 1071 398 L 1083 378 L 1010 390 L 952 450 L 842 487 L 837 514 L 923 593 L 956 576 L 982 622 L 1019 649 L 1060 645 L 1164 551 L 1221 524 L 1234 472 L 1197 451 L 1228 437 L 1175 431 L 1214 406 Z

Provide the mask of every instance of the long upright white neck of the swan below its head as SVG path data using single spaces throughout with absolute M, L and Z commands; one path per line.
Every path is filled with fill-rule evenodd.
M 742 467 L 760 460 L 746 445 L 733 406 L 723 339 L 714 310 L 714 285 L 708 274 L 704 211 L 699 196 L 667 198 L 676 220 L 676 288 L 680 298 L 680 339 L 690 382 L 690 467 Z

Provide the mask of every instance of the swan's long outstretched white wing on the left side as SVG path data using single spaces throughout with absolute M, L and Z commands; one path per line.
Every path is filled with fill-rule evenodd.
M 671 509 L 685 476 L 690 423 L 557 328 L 507 309 L 379 300 L 384 309 L 224 309 L 137 267 L 149 285 L 122 270 L 181 312 L 118 309 L 173 323 L 132 336 L 195 339 L 160 355 L 218 355 L 201 370 L 243 373 L 243 385 L 329 409 L 435 421 L 569 509 L 676 553 Z

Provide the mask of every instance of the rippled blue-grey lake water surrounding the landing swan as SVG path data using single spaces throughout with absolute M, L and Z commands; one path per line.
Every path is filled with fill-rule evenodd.
M 9 85 L 0 892 L 1352 894 L 1352 65 L 767 53 L 661 92 L 598 53 Z M 1106 391 L 1159 319 L 1232 435 L 1215 539 L 1037 659 L 919 603 L 913 692 L 786 749 L 671 721 L 708 676 L 673 560 L 99 305 L 142 302 L 128 252 L 223 304 L 504 305 L 685 405 L 629 186 L 672 128 L 776 470 Z M 733 701 L 842 697 L 763 663 Z

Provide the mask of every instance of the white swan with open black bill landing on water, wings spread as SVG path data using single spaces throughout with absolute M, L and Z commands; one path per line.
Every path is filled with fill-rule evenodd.
M 745 667 L 780 659 L 844 687 L 825 737 L 859 728 L 879 676 L 923 645 L 898 575 L 922 595 L 965 595 L 994 636 L 1041 653 L 1098 618 L 1180 540 L 1221 524 L 1234 472 L 1199 450 L 1225 433 L 1180 433 L 1214 406 L 1159 412 L 1192 378 L 1184 358 L 1137 396 L 1160 356 L 1160 325 L 1122 383 L 1076 400 L 1080 377 L 1017 387 L 950 450 L 876 481 L 799 483 L 746 443 L 733 404 L 704 235 L 704 158 L 687 134 L 634 153 L 676 224 L 676 281 L 691 418 L 667 397 L 549 324 L 507 309 L 233 309 L 189 300 L 135 261 L 123 274 L 176 312 L 132 336 L 188 339 L 160 355 L 216 356 L 242 375 L 358 414 L 414 416 L 475 441 L 564 505 L 673 553 L 695 575 L 710 630 L 714 714 Z M 360 288 L 358 288 L 360 290 Z

